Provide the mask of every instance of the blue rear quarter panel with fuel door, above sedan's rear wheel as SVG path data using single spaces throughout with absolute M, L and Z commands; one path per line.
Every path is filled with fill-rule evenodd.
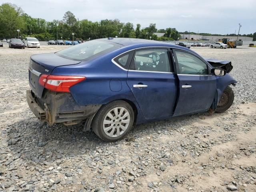
M 71 95 L 80 105 L 102 105 L 118 99 L 129 100 L 136 106 L 137 123 L 140 123 L 143 121 L 143 116 L 136 99 L 126 84 L 127 71 L 119 68 L 111 61 L 112 58 L 122 52 L 125 50 L 72 66 L 56 67 L 52 74 L 86 77 L 86 80 L 70 88 Z

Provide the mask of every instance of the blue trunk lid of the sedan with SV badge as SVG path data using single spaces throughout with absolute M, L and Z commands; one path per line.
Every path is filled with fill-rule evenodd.
M 38 83 L 42 74 L 51 74 L 52 70 L 58 66 L 74 65 L 80 61 L 69 60 L 54 53 L 37 54 L 30 57 L 29 63 L 29 85 L 38 98 L 42 97 L 44 87 Z

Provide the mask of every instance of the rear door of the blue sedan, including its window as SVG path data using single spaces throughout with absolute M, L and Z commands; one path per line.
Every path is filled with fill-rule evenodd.
M 169 53 L 168 48 L 143 48 L 132 58 L 126 82 L 146 119 L 173 114 L 178 82 Z

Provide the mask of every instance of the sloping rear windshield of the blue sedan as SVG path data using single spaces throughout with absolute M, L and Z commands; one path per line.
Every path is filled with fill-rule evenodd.
M 106 54 L 120 48 L 121 45 L 102 40 L 87 41 L 70 48 L 56 52 L 58 56 L 72 60 L 86 60 L 92 56 Z

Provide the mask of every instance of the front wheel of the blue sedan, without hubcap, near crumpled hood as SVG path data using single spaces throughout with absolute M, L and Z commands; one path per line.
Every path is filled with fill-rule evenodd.
M 234 92 L 227 86 L 222 95 L 220 96 L 220 101 L 218 102 L 216 113 L 222 113 L 230 108 L 234 101 Z

